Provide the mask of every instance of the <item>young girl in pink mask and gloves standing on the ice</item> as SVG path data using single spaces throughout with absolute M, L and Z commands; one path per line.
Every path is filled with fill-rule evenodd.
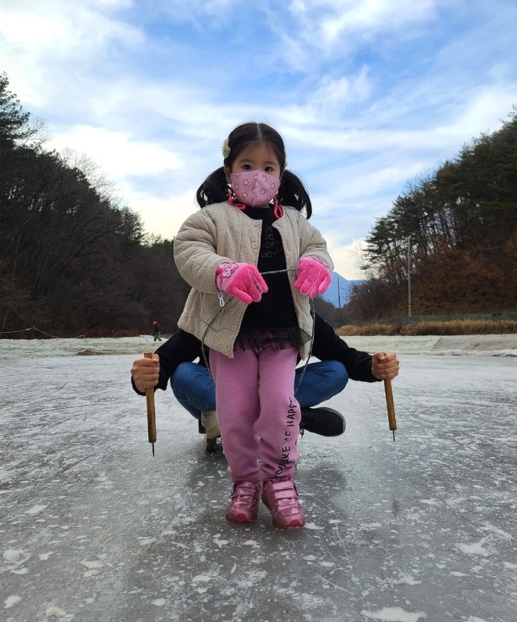
M 239 125 L 223 157 L 198 189 L 204 209 L 175 237 L 177 268 L 193 287 L 178 326 L 210 349 L 233 481 L 226 518 L 255 520 L 262 495 L 274 527 L 303 527 L 292 479 L 300 423 L 294 370 L 298 355 L 310 352 L 309 297 L 325 292 L 333 264 L 308 223 L 310 198 L 286 170 L 276 130 Z

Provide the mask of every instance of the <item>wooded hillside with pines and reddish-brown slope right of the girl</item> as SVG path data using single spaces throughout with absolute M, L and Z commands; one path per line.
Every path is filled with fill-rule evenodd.
M 366 239 L 347 319 L 517 310 L 517 108 L 408 184 Z M 411 287 L 408 287 L 408 280 Z

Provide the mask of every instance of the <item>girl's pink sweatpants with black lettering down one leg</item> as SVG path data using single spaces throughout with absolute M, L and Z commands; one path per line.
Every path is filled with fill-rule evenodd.
M 300 408 L 294 399 L 298 350 L 210 351 L 223 450 L 232 481 L 290 476 L 299 458 Z M 259 460 L 260 459 L 260 460 Z

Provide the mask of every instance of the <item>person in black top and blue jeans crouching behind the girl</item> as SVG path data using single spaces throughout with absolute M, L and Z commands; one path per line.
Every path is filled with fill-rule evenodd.
M 399 374 L 399 360 L 394 353 L 371 355 L 351 348 L 319 314 L 315 314 L 312 356 L 319 361 L 296 369 L 295 397 L 301 408 L 302 433 L 340 436 L 345 428 L 344 417 L 318 404 L 340 393 L 349 380 L 374 383 L 392 380 Z M 207 453 L 215 451 L 220 436 L 215 390 L 196 337 L 177 330 L 152 358 L 135 360 L 131 374 L 132 386 L 140 395 L 145 395 L 146 388 L 166 390 L 170 382 L 177 401 L 198 420 L 199 431 L 206 434 Z

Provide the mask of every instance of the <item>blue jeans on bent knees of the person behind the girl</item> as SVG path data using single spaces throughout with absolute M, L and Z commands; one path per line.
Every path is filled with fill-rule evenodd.
M 340 393 L 348 382 L 347 370 L 337 360 L 320 360 L 296 369 L 294 395 L 300 408 L 316 406 Z M 300 378 L 303 374 L 303 378 Z M 170 376 L 173 393 L 186 410 L 200 419 L 201 410 L 216 410 L 216 392 L 207 368 L 200 363 L 184 362 Z

